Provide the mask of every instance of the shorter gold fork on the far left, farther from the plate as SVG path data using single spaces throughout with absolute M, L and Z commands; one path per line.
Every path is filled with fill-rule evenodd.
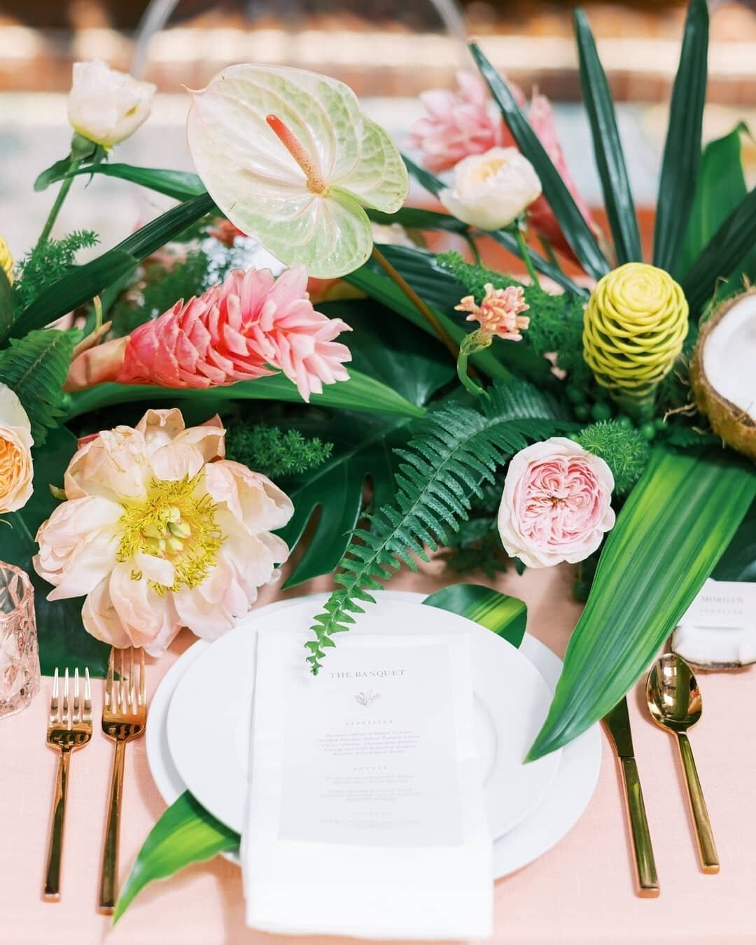
M 68 668 L 63 677 L 63 704 L 60 711 L 60 679 L 56 667 L 53 692 L 50 698 L 50 718 L 47 722 L 47 745 L 60 751 L 58 782 L 50 821 L 50 840 L 47 847 L 47 870 L 44 876 L 43 898 L 47 902 L 60 900 L 60 856 L 63 850 L 63 823 L 65 799 L 68 793 L 68 765 L 71 752 L 83 748 L 92 738 L 92 690 L 89 669 L 84 669 L 84 703 L 80 700 L 78 669 L 74 672 L 73 704 L 69 702 Z M 69 711 L 72 710 L 72 711 Z

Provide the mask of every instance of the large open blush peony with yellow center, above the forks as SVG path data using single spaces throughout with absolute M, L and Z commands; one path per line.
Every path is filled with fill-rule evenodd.
M 185 429 L 173 409 L 87 438 L 65 473 L 67 501 L 37 534 L 48 600 L 86 594 L 94 637 L 152 656 L 180 627 L 208 640 L 231 629 L 288 557 L 271 530 L 293 506 L 222 458 L 225 433 L 217 418 Z

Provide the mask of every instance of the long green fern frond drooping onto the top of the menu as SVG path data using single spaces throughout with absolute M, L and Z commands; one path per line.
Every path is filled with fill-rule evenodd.
M 438 550 L 468 517 L 472 497 L 493 482 L 496 469 L 529 440 L 552 436 L 570 424 L 558 407 L 535 387 L 503 383 L 490 388 L 481 409 L 449 404 L 428 414 L 406 449 L 396 474 L 394 502 L 358 529 L 335 576 L 332 593 L 312 629 L 307 661 L 317 675 L 325 648 L 335 633 L 349 629 L 361 603 L 375 603 L 379 590 L 402 564 L 416 571 L 413 556 L 427 561 L 426 547 Z

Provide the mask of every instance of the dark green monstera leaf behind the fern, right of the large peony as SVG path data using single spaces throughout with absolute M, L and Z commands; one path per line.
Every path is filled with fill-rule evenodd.
M 419 329 L 396 318 L 373 301 L 344 301 L 318 305 L 330 318 L 352 326 L 350 349 L 355 369 L 361 370 L 407 401 L 422 406 L 452 380 L 454 365 L 447 352 Z M 390 502 L 394 495 L 394 447 L 409 436 L 410 417 L 356 414 L 351 411 L 309 412 L 310 421 L 298 424 L 303 433 L 334 442 L 331 458 L 308 472 L 286 490 L 294 502 L 294 517 L 281 532 L 293 547 L 319 512 L 318 524 L 308 536 L 301 560 L 286 586 L 333 571 L 357 524 L 366 485 L 371 505 Z M 285 484 L 283 484 L 285 485 Z

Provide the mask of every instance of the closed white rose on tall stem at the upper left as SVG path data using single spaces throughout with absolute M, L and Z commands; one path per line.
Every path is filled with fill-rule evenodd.
M 112 147 L 142 125 L 157 86 L 111 69 L 102 60 L 74 63 L 68 120 L 84 138 Z

